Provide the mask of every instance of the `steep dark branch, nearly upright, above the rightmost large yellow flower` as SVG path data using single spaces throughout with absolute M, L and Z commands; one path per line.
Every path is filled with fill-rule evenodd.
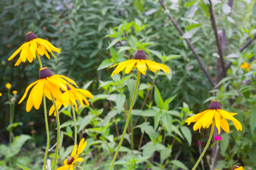
M 213 8 L 212 8 L 212 1 L 209 0 L 210 6 L 209 6 L 209 13 L 210 13 L 210 20 L 212 20 L 212 28 L 214 30 L 214 35 L 216 38 L 216 44 L 218 47 L 218 54 L 220 54 L 220 60 L 221 60 L 221 67 L 222 67 L 222 73 L 224 74 L 224 77 L 226 76 L 226 69 L 225 69 L 225 63 L 224 63 L 224 52 L 221 48 L 221 42 L 220 37 L 218 36 L 218 27 L 216 24 Z

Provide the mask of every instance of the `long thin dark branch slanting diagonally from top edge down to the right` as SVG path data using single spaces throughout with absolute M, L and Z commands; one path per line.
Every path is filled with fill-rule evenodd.
M 166 6 L 163 4 L 162 0 L 159 0 L 160 4 L 162 5 L 162 7 L 164 8 L 164 10 L 166 10 Z M 175 28 L 177 29 L 177 31 L 179 31 L 180 35 L 183 36 L 183 31 L 181 31 L 180 27 L 177 25 L 177 23 L 175 22 L 174 18 L 172 18 L 171 14 L 168 14 L 169 19 L 172 21 L 172 23 L 174 23 Z M 215 83 L 213 82 L 212 77 L 210 76 L 210 74 L 208 73 L 207 69 L 205 69 L 203 62 L 201 61 L 199 55 L 197 54 L 195 48 L 193 47 L 193 45 L 191 44 L 191 42 L 188 39 L 185 39 L 185 41 L 187 42 L 189 48 L 192 50 L 193 54 L 196 56 L 197 61 L 199 62 L 199 65 L 201 66 L 201 68 L 203 69 L 204 73 L 207 75 L 207 78 L 209 79 L 210 84 L 212 84 L 212 86 L 215 86 Z

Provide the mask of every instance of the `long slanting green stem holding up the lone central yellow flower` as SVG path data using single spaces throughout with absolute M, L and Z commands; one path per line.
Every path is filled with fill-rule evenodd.
M 139 78 L 141 77 L 141 71 L 138 71 L 138 77 L 137 77 L 137 83 L 136 83 L 136 86 L 135 86 L 135 90 L 134 90 L 134 94 L 133 94 L 133 100 L 131 100 L 131 106 L 130 106 L 130 110 L 129 110 L 129 113 L 128 113 L 128 117 L 127 117 L 127 120 L 126 120 L 126 124 L 125 124 L 125 129 L 123 129 L 123 134 L 122 134 L 122 138 L 119 142 L 119 145 L 117 147 L 117 151 L 115 152 L 115 155 L 114 155 L 114 158 L 112 160 L 112 163 L 111 163 L 111 166 L 110 166 L 110 170 L 112 170 L 113 166 L 114 166 L 114 162 L 115 162 L 115 159 L 117 158 L 117 154 L 119 152 L 119 149 L 122 145 L 122 142 L 123 142 L 123 138 L 125 138 L 125 133 L 126 133 L 126 130 L 127 130 L 127 126 L 129 124 L 129 120 L 130 120 L 130 117 L 131 117 L 131 111 L 133 110 L 133 105 L 134 105 L 134 101 L 135 101 L 135 97 L 136 97 L 136 94 L 137 94 L 137 91 L 138 91 L 138 86 L 139 86 Z

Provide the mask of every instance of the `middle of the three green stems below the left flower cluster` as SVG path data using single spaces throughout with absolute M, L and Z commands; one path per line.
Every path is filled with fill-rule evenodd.
M 52 94 L 51 94 L 52 95 Z M 57 165 L 57 159 L 58 159 L 58 155 L 59 155 L 59 144 L 60 144 L 60 119 L 59 119 L 59 112 L 57 109 L 57 105 L 55 102 L 55 98 L 52 95 L 52 101 L 55 107 L 55 112 L 56 112 L 56 122 L 57 122 L 57 144 L 56 144 L 56 151 L 55 151 L 55 158 L 53 160 L 53 168 L 52 170 L 56 169 L 56 165 Z

